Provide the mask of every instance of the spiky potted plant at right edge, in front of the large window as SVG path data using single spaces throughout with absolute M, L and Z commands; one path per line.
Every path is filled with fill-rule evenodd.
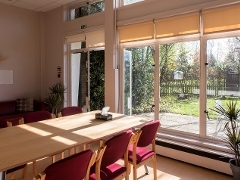
M 233 179 L 240 179 L 240 127 L 239 127 L 239 115 L 240 108 L 237 107 L 236 101 L 228 101 L 226 107 L 216 106 L 213 111 L 224 116 L 226 118 L 226 123 L 224 125 L 224 130 L 226 134 L 226 142 L 229 144 L 230 149 L 234 154 L 234 159 L 229 161 L 230 168 L 233 173 Z

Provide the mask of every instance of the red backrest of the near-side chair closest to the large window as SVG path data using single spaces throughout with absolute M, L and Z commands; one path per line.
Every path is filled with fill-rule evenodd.
M 145 124 L 141 128 L 141 135 L 139 137 L 137 146 L 138 147 L 146 147 L 149 144 L 151 144 L 152 141 L 155 140 L 156 133 L 157 133 L 159 126 L 160 126 L 159 120 L 151 121 L 151 122 Z

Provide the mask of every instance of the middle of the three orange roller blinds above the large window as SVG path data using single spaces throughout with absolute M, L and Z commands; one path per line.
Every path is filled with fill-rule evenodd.
M 199 12 L 155 21 L 156 38 L 173 37 L 200 32 Z

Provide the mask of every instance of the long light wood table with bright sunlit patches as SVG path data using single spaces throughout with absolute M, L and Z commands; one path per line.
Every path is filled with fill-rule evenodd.
M 91 143 L 119 132 L 142 126 L 143 117 L 110 113 L 112 120 L 95 119 L 91 111 L 0 129 L 0 180 L 18 165 Z

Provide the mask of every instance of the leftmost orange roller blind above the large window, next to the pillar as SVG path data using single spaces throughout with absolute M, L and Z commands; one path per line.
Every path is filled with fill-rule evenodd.
M 147 40 L 153 39 L 154 37 L 154 26 L 152 22 L 119 27 L 118 31 L 120 42 Z

